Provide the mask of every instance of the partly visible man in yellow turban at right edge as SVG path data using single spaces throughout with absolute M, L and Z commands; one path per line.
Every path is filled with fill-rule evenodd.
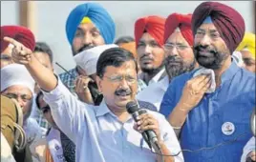
M 255 73 L 255 34 L 245 32 L 244 39 L 236 51 L 241 52 L 245 69 Z

